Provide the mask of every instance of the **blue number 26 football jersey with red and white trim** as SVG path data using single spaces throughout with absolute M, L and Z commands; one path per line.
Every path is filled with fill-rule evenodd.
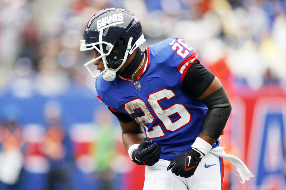
M 97 97 L 142 125 L 146 138 L 161 146 L 161 159 L 174 159 L 178 152 L 191 150 L 208 111 L 182 85 L 197 52 L 178 38 L 166 39 L 143 51 L 147 61 L 136 80 L 119 75 L 108 82 L 97 77 Z

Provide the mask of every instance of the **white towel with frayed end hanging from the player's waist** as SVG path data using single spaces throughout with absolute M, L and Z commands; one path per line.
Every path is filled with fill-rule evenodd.
M 254 175 L 248 170 L 246 165 L 239 158 L 237 158 L 231 154 L 225 153 L 222 147 L 218 146 L 216 148 L 211 149 L 209 152 L 213 153 L 216 156 L 220 156 L 223 159 L 226 159 L 229 162 L 231 162 L 232 164 L 234 164 L 236 167 L 236 170 L 240 176 L 240 178 L 239 178 L 240 183 L 245 183 L 245 181 L 250 180 L 249 178 L 254 177 Z

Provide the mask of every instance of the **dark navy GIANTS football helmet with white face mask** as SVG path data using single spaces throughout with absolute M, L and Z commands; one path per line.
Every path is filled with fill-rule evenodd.
M 100 56 L 91 59 L 84 66 L 94 79 L 102 75 L 104 80 L 112 81 L 128 55 L 145 41 L 142 25 L 133 13 L 119 8 L 100 10 L 89 19 L 83 31 L 83 39 L 80 40 L 81 51 L 95 49 Z M 120 49 L 114 52 L 118 45 Z M 88 65 L 98 59 L 102 59 L 104 70 L 94 75 Z M 111 69 L 107 65 L 117 67 Z

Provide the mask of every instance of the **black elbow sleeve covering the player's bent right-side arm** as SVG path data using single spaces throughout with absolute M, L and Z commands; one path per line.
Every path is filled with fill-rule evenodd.
M 201 132 L 218 139 L 226 126 L 231 112 L 231 105 L 223 87 L 202 100 L 209 108 Z

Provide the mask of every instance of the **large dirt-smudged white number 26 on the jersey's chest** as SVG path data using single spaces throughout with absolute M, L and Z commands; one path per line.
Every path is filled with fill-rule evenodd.
M 165 88 L 153 92 L 148 96 L 148 103 L 152 108 L 153 112 L 155 113 L 156 117 L 161 121 L 165 129 L 171 132 L 180 129 L 191 121 L 191 114 L 183 104 L 175 103 L 170 107 L 167 107 L 166 109 L 163 109 L 159 104 L 160 100 L 169 100 L 174 96 L 176 96 L 176 94 L 172 90 Z M 151 114 L 150 110 L 142 99 L 137 98 L 126 102 L 124 107 L 129 114 L 134 114 L 136 109 L 142 110 L 144 115 L 136 117 L 135 121 L 145 128 L 146 135 L 148 138 L 158 138 L 165 136 L 165 133 L 160 124 L 153 126 L 152 129 L 148 131 L 148 127 L 145 126 L 145 124 L 153 123 L 154 116 Z M 179 116 L 179 119 L 177 119 L 176 121 L 172 121 L 170 117 L 174 114 L 178 114 Z

